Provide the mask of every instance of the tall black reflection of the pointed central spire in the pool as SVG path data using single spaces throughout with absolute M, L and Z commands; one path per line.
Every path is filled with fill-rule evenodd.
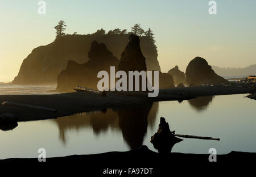
M 152 104 L 117 109 L 119 127 L 123 138 L 131 149 L 138 149 L 143 144 L 147 132 L 147 116 Z

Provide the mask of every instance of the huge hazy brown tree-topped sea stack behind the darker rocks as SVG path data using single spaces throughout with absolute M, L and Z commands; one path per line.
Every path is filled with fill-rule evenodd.
M 106 44 L 113 55 L 119 57 L 127 44 L 128 37 L 128 34 L 65 35 L 51 44 L 32 50 L 23 60 L 19 74 L 14 78 L 13 83 L 16 85 L 56 84 L 58 75 L 67 68 L 69 60 L 77 64 L 84 64 L 90 60 L 88 53 L 92 41 Z M 142 36 L 140 39 L 147 69 L 160 70 L 154 43 L 147 36 Z

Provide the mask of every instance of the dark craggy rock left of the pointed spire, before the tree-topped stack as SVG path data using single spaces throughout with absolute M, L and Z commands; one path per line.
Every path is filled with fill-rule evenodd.
M 97 90 L 98 71 L 110 73 L 110 66 L 118 66 L 119 60 L 113 56 L 104 43 L 93 41 L 88 52 L 90 60 L 85 64 L 68 61 L 67 68 L 58 76 L 57 90 L 73 91 L 76 86 L 88 87 Z

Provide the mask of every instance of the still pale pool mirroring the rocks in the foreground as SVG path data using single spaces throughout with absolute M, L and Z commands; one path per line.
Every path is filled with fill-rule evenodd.
M 77 113 L 52 120 L 19 122 L 0 130 L 0 159 L 47 157 L 126 151 L 147 145 L 164 117 L 177 134 L 209 136 L 220 141 L 182 138 L 172 152 L 217 154 L 232 150 L 256 153 L 256 101 L 247 94 L 204 96 L 191 100 L 155 102 L 142 106 Z

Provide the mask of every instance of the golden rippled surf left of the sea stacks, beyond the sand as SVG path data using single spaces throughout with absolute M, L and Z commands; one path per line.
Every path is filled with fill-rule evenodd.
M 56 85 L 13 85 L 11 82 L 0 82 L 0 95 L 37 95 L 57 94 Z

